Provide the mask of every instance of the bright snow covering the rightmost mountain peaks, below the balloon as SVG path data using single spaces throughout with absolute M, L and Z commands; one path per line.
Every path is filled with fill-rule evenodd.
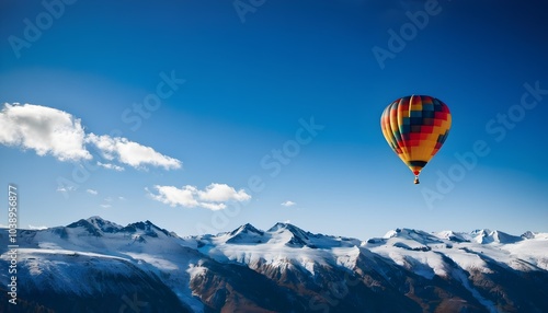
M 397 229 L 381 239 L 372 239 L 366 248 L 391 258 L 398 265 L 432 278 L 448 274 L 442 256 L 447 256 L 464 269 L 491 273 L 481 255 L 514 269 L 547 269 L 548 241 L 541 234 L 532 239 L 501 231 L 477 230 L 470 233 L 443 231 L 425 233 Z

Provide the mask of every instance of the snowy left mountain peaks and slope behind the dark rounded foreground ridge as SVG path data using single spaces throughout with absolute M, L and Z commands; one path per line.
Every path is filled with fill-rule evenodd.
M 0 239 L 5 242 L 7 236 Z M 71 256 L 89 256 L 101 259 L 101 263 L 112 258 L 128 262 L 153 273 L 170 287 L 183 303 L 187 303 L 193 311 L 203 311 L 203 304 L 192 295 L 192 290 L 181 281 L 189 281 L 186 269 L 203 256 L 195 250 L 189 248 L 184 239 L 162 230 L 149 221 L 119 227 L 99 217 L 79 220 L 67 227 L 30 231 L 20 231 L 21 266 L 28 267 L 30 273 L 44 271 L 37 267 L 36 259 L 47 267 L 46 273 L 64 273 L 71 270 L 76 264 Z M 5 245 L 7 246 L 7 242 Z M 0 250 L 1 251 L 1 250 Z M 3 253 L 3 252 L 2 252 Z M 39 256 L 36 256 L 39 255 Z M 65 262 L 52 260 L 54 256 L 67 258 Z M 2 254 L 2 258 L 5 253 Z M 33 262 L 26 262 L 32 259 Z M 65 267 L 64 264 L 71 266 Z M 68 279 L 71 275 L 60 277 Z M 39 276 L 33 279 L 38 279 Z M 62 285 L 62 279 L 59 282 Z M 70 286 L 70 283 L 64 283 Z

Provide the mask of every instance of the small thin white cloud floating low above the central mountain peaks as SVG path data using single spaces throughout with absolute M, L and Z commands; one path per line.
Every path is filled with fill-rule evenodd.
M 237 192 L 233 187 L 226 184 L 216 183 L 210 184 L 204 190 L 199 190 L 191 185 L 183 186 L 182 188 L 156 185 L 155 189 L 158 192 L 157 194 L 151 193 L 148 188 L 145 189 L 152 199 L 171 207 L 201 207 L 214 211 L 225 209 L 228 201 L 241 202 L 251 199 L 251 196 L 243 189 Z

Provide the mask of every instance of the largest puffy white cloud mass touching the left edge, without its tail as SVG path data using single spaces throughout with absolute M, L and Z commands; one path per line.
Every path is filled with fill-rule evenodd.
M 59 161 L 89 160 L 80 119 L 41 105 L 4 104 L 0 111 L 0 143 L 52 154 Z

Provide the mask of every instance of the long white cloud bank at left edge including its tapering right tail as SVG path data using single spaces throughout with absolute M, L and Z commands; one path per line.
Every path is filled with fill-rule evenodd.
M 31 149 L 41 156 L 50 154 L 59 161 L 91 160 L 93 155 L 87 146 L 93 144 L 107 161 L 133 167 L 181 167 L 181 161 L 127 138 L 85 134 L 79 118 L 57 108 L 5 103 L 0 111 L 0 144 Z M 98 161 L 98 165 L 118 172 L 124 170 L 111 162 Z

